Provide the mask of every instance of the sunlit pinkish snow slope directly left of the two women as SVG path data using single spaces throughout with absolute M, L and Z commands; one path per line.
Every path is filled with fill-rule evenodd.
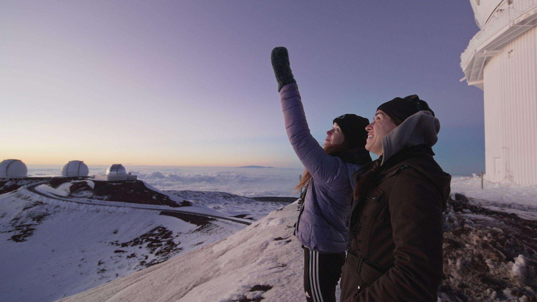
M 303 300 L 295 219 L 296 205 L 288 205 L 214 244 L 62 301 Z

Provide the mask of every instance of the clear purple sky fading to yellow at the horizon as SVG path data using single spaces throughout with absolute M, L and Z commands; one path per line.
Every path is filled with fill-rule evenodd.
M 3 2 L 0 160 L 300 167 L 270 64 L 285 46 L 318 141 L 416 93 L 440 165 L 479 173 L 483 92 L 459 82 L 477 31 L 466 1 Z

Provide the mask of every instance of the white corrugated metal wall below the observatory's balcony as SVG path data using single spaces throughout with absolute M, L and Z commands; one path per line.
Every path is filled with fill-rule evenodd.
M 537 27 L 485 65 L 485 178 L 537 185 Z

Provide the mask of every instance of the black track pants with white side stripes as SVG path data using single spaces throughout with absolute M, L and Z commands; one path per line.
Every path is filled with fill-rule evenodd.
M 345 252 L 321 254 L 304 247 L 304 291 L 308 302 L 336 302 Z

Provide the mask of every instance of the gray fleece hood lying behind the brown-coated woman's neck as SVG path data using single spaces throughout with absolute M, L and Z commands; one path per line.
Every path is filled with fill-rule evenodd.
M 382 163 L 405 146 L 425 144 L 432 147 L 438 141 L 440 121 L 429 111 L 419 111 L 382 138 Z

